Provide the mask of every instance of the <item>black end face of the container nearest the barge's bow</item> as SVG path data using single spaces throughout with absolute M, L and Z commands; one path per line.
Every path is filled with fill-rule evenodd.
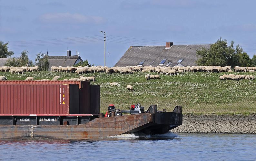
M 91 85 L 91 114 L 100 113 L 100 86 Z

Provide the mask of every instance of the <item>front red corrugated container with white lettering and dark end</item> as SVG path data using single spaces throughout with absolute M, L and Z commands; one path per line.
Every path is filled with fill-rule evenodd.
M 77 114 L 78 93 L 75 84 L 0 84 L 0 114 Z

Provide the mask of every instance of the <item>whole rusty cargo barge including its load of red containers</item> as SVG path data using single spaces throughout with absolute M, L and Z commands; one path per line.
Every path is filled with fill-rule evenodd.
M 0 93 L 0 139 L 90 139 L 136 132 L 163 134 L 182 124 L 181 106 L 165 112 L 151 105 L 144 112 L 140 104 L 132 105 L 130 110 L 110 105 L 103 115 L 99 112 L 99 86 L 89 82 L 26 83 L 0 83 L 0 91 L 5 91 Z

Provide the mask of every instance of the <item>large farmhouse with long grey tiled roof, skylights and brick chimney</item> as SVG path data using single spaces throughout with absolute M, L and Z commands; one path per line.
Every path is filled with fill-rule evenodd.
M 131 46 L 115 66 L 193 66 L 198 59 L 196 50 L 209 48 L 210 44 L 165 46 Z

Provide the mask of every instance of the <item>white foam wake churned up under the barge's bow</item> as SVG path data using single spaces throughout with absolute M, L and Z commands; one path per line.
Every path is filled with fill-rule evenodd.
M 171 138 L 171 137 L 178 137 L 178 135 L 169 131 L 164 134 L 156 134 L 156 135 L 145 135 L 143 133 L 122 134 L 122 135 L 111 136 L 110 138 Z

